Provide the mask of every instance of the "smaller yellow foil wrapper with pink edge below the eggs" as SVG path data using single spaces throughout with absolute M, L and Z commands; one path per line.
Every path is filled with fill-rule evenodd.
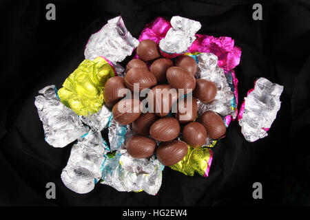
M 203 147 L 192 148 L 189 145 L 187 146 L 187 155 L 181 161 L 169 167 L 188 176 L 194 176 L 196 171 L 199 175 L 207 177 L 213 158 L 211 149 Z

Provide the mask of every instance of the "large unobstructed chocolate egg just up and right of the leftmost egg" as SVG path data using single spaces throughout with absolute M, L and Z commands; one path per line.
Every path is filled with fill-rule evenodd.
M 154 74 L 147 69 L 132 68 L 125 75 L 125 85 L 128 89 L 134 91 L 134 83 L 138 83 L 137 89 L 141 91 L 153 87 L 157 84 L 157 81 Z

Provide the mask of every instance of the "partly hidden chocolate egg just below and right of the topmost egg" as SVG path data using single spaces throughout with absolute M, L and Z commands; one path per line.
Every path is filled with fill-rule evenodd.
M 158 82 L 163 82 L 166 80 L 167 69 L 173 65 L 174 63 L 172 60 L 167 58 L 159 58 L 152 63 L 149 70 L 154 74 Z

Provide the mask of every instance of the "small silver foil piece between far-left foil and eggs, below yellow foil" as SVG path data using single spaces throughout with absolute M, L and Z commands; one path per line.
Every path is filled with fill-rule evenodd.
M 90 116 L 80 116 L 81 121 L 87 124 L 92 128 L 94 131 L 102 131 L 109 126 L 110 120 L 112 118 L 112 111 L 105 107 L 100 109 L 99 112 L 90 115 Z

